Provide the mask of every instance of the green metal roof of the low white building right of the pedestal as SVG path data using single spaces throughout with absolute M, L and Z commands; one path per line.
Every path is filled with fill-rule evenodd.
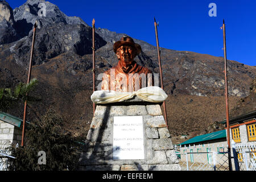
M 191 138 L 191 139 L 189 139 L 189 140 L 187 140 L 183 143 L 180 143 L 178 145 L 204 142 L 204 141 L 207 141 L 207 140 L 214 140 L 214 139 L 219 139 L 219 138 L 226 138 L 226 130 L 216 131 L 216 132 L 208 133 L 208 134 L 205 134 L 205 135 L 199 135 L 199 136 Z

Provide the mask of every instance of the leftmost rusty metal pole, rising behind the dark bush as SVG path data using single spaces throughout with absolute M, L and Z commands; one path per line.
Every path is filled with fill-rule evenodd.
M 36 33 L 36 23 L 34 24 L 34 30 L 33 30 L 32 46 L 31 46 L 31 53 L 30 53 L 30 67 L 28 68 L 27 83 L 30 82 L 30 77 L 31 77 L 32 59 L 33 59 L 34 44 L 35 44 L 35 33 Z M 24 145 L 26 115 L 27 115 L 27 101 L 25 101 L 25 104 L 24 104 L 23 128 L 22 128 L 22 146 Z

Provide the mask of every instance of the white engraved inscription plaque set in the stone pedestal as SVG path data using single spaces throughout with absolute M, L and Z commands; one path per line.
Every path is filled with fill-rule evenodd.
M 113 159 L 144 159 L 142 116 L 114 117 Z

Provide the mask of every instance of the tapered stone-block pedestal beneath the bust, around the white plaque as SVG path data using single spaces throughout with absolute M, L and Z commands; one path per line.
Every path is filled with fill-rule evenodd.
M 134 97 L 123 102 L 97 105 L 80 158 L 80 169 L 180 171 L 161 104 L 145 102 Z M 113 160 L 114 117 L 134 115 L 141 115 L 143 118 L 144 159 Z

